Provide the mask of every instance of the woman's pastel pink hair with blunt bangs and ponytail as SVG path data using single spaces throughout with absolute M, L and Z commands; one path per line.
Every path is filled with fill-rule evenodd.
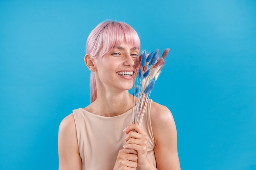
M 103 21 L 88 36 L 86 51 L 92 58 L 102 57 L 124 41 L 140 50 L 139 36 L 130 25 L 111 20 Z M 91 72 L 90 87 L 92 103 L 97 98 L 96 80 L 93 72 Z

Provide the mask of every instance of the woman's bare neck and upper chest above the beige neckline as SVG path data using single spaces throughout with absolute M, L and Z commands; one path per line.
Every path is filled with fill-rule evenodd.
M 98 93 L 97 99 L 92 102 L 85 110 L 91 113 L 112 117 L 121 115 L 132 108 L 132 95 L 128 91 L 120 93 Z

